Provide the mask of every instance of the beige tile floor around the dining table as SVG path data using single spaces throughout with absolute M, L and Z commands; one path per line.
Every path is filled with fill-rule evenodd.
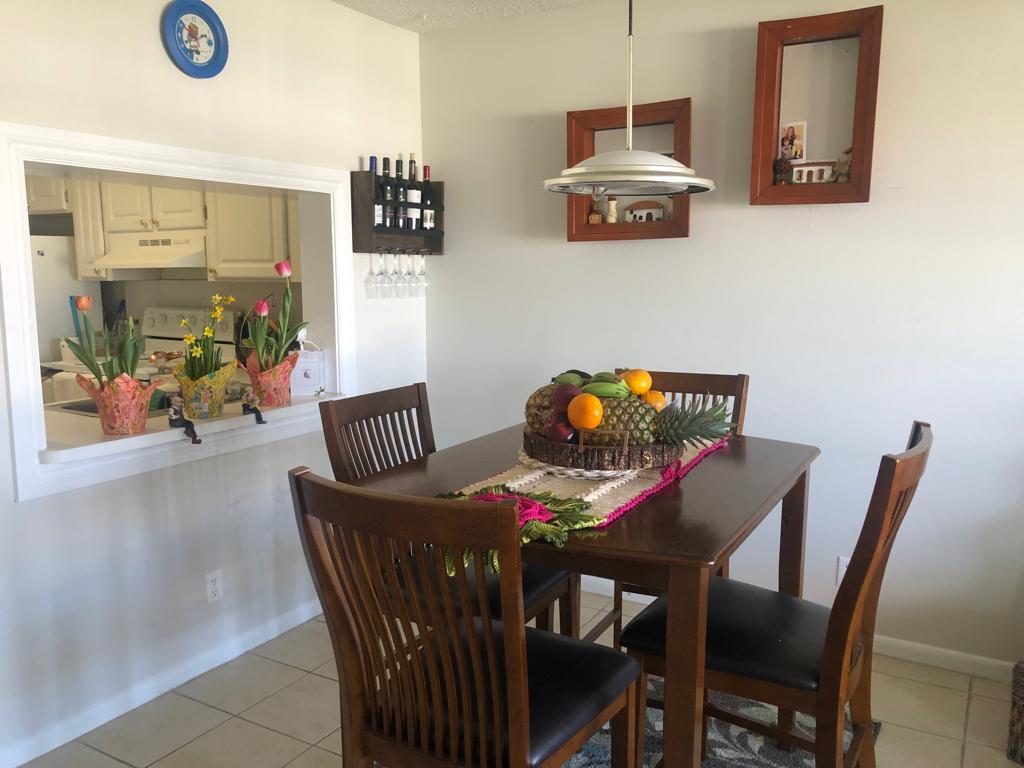
M 585 593 L 584 630 L 610 606 Z M 873 685 L 880 768 L 1017 768 L 1009 684 L 877 656 Z M 331 641 L 312 620 L 25 768 L 339 768 L 339 725 Z

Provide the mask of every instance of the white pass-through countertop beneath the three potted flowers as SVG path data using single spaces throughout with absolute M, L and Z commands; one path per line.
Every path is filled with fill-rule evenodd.
M 290 406 L 260 408 L 266 424 L 257 424 L 255 417 L 251 414 L 243 415 L 241 401 L 229 402 L 224 406 L 224 415 L 220 418 L 195 420 L 196 431 L 201 438 L 206 438 L 224 432 L 266 430 L 266 432 L 258 434 L 259 441 L 265 442 L 284 422 L 296 418 L 308 418 L 316 413 L 322 400 L 337 399 L 342 396 L 340 394 L 324 394 L 319 397 L 293 397 Z M 46 408 L 44 409 L 44 418 L 46 421 L 46 449 L 39 452 L 41 464 L 63 464 L 99 459 L 155 445 L 190 444 L 190 440 L 182 429 L 172 428 L 168 425 L 167 413 L 164 411 L 154 414 L 146 423 L 146 431 L 138 435 L 103 434 L 98 418 L 68 411 Z

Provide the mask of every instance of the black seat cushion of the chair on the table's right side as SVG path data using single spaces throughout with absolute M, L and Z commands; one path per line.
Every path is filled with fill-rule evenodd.
M 663 595 L 623 630 L 623 645 L 664 656 L 668 609 Z M 708 594 L 708 669 L 817 690 L 828 615 L 823 605 L 716 577 Z

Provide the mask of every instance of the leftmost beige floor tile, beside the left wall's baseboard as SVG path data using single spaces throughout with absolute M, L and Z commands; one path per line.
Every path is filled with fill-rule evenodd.
M 165 693 L 86 733 L 81 740 L 118 760 L 146 766 L 229 717 L 177 693 Z

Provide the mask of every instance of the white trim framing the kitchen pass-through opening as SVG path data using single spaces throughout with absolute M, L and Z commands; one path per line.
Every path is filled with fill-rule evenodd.
M 94 168 L 204 181 L 272 186 L 331 196 L 334 244 L 333 333 L 326 379 L 329 392 L 355 392 L 355 295 L 349 214 L 349 172 L 218 153 L 111 138 L 87 133 L 0 122 L 0 296 L 3 299 L 4 370 L 12 476 L 17 501 L 92 485 L 158 467 L 293 437 L 319 429 L 312 403 L 283 410 L 273 424 L 225 429 L 202 446 L 166 442 L 138 452 L 136 459 L 43 463 L 46 450 L 31 243 L 26 211 L 25 164 Z M 327 311 L 325 319 L 327 319 Z M 327 322 L 330 322 L 328 319 Z M 98 425 L 97 425 L 98 427 Z M 263 431 L 259 431 L 263 430 Z M 270 431 L 272 430 L 272 432 Z M 133 451 L 125 438 L 125 453 Z M 140 446 L 138 446 L 140 447 Z M 201 450 L 194 450 L 201 449 Z M 144 455 L 144 458 L 143 458 Z

